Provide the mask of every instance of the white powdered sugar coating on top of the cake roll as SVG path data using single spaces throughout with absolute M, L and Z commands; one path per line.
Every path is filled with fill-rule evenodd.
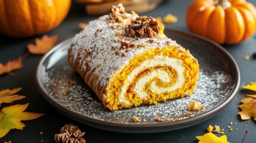
M 128 19 L 125 20 L 124 24 L 127 24 L 132 18 L 131 14 L 127 13 L 127 15 Z M 121 40 L 136 45 L 137 48 L 122 51 Z M 158 35 L 156 38 L 129 38 L 125 36 L 122 23 L 110 23 L 109 15 L 103 15 L 97 20 L 90 21 L 88 26 L 73 38 L 70 54 L 73 56 L 73 65 L 75 60 L 79 58 L 79 64 L 84 65 L 82 68 L 86 70 L 85 63 L 87 63 L 90 67 L 89 73 L 93 71 L 99 78 L 100 83 L 96 84 L 103 87 L 107 84 L 107 79 L 112 77 L 135 55 L 141 54 L 145 49 L 163 48 L 166 45 L 177 46 L 184 50 L 165 35 Z M 122 55 L 122 52 L 125 52 L 125 56 Z

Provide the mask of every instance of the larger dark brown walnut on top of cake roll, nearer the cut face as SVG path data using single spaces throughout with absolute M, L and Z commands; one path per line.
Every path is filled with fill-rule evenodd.
M 154 38 L 158 35 L 160 27 L 153 17 L 137 17 L 131 20 L 131 24 L 125 27 L 125 36 L 135 38 Z

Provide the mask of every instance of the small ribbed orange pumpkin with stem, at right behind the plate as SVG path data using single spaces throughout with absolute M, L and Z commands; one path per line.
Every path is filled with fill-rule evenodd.
M 245 0 L 197 0 L 186 13 L 189 29 L 217 43 L 235 44 L 256 30 L 256 8 Z

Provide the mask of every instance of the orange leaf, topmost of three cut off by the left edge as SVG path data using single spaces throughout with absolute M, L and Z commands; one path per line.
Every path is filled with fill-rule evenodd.
M 14 59 L 12 61 L 8 61 L 7 64 L 0 63 L 0 75 L 3 73 L 10 73 L 13 70 L 20 69 L 22 67 L 22 58 L 18 57 L 18 59 Z

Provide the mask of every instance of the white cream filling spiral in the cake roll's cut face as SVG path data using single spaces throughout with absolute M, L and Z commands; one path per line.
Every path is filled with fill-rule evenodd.
M 155 57 L 151 58 L 150 60 L 146 60 L 143 63 L 140 64 L 140 66 L 135 67 L 131 71 L 131 73 L 128 75 L 127 80 L 125 80 L 124 85 L 121 88 L 121 92 L 119 94 L 119 102 L 124 102 L 125 104 L 129 104 L 130 102 L 125 99 L 125 92 L 127 91 L 128 86 L 131 84 L 132 80 L 143 70 L 149 69 L 150 67 L 156 67 L 156 66 L 169 66 L 172 67 L 175 71 L 177 71 L 177 81 L 176 83 L 169 87 L 159 87 L 156 86 L 155 82 L 152 82 L 150 84 L 149 89 L 152 92 L 156 92 L 157 94 L 162 94 L 163 92 L 172 92 L 175 89 L 181 88 L 184 84 L 185 77 L 183 74 L 183 71 L 185 68 L 182 65 L 182 61 L 178 60 L 177 58 L 170 58 L 170 57 L 164 57 L 163 55 L 156 55 Z M 171 82 L 171 78 L 169 77 L 168 73 L 165 70 L 155 70 L 150 72 L 149 74 L 141 77 L 137 83 L 135 83 L 134 86 L 134 92 L 137 94 L 138 97 L 143 99 L 144 97 L 147 97 L 147 93 L 143 91 L 144 86 L 147 82 L 149 82 L 150 79 L 153 79 L 155 77 L 158 77 L 162 82 Z

